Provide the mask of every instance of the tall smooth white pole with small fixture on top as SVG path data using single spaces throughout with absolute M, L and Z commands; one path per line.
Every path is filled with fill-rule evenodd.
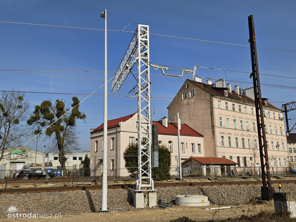
M 103 133 L 103 182 L 102 182 L 102 207 L 100 211 L 108 211 L 107 208 L 107 10 L 101 17 L 105 18 L 105 69 L 104 69 L 104 133 Z

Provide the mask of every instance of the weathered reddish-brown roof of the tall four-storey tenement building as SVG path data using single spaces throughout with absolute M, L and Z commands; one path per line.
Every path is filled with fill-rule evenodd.
M 244 95 L 239 95 L 237 94 L 235 91 L 231 91 L 231 93 L 228 93 L 228 96 L 225 96 L 224 95 L 224 91 L 222 91 L 222 93 L 220 92 L 221 89 L 226 89 L 227 88 L 216 88 L 216 87 L 212 87 L 212 85 L 208 85 L 206 83 L 200 83 L 200 82 L 196 82 L 196 81 L 193 81 L 191 79 L 187 79 L 188 81 L 196 84 L 197 86 L 199 86 L 200 88 L 202 88 L 203 90 L 211 93 L 211 94 L 214 94 L 216 96 L 223 96 L 225 98 L 229 98 L 229 99 L 235 99 L 235 100 L 238 100 L 238 101 L 241 101 L 241 102 L 250 102 L 250 103 L 254 103 L 255 104 L 255 100 L 248 97 L 248 96 L 244 96 Z M 186 80 L 186 81 L 187 81 Z M 277 109 L 277 110 L 280 110 L 279 108 L 275 107 L 274 105 L 271 105 L 270 103 L 267 102 L 267 106 L 268 107 L 271 107 L 271 108 L 274 108 L 274 109 Z M 265 107 L 264 103 L 263 103 L 263 107 Z

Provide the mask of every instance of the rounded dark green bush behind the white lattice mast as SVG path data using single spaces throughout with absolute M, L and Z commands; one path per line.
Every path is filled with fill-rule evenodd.
M 138 143 L 128 144 L 123 156 L 130 177 L 138 178 Z M 159 167 L 153 167 L 151 170 L 152 177 L 158 180 L 169 179 L 171 155 L 166 145 L 158 146 L 158 161 Z

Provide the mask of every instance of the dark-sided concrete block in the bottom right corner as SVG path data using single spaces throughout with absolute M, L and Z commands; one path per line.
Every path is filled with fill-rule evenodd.
M 274 193 L 275 213 L 289 212 L 291 218 L 296 218 L 295 196 L 291 193 Z

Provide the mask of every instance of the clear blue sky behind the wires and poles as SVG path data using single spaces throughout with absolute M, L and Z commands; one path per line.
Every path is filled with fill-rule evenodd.
M 14 1 L 0 0 L 0 21 L 104 29 L 100 13 L 107 9 L 110 30 L 122 30 L 130 23 L 149 25 L 150 33 L 249 45 L 247 17 L 254 15 L 257 46 L 296 50 L 294 1 Z M 136 25 L 125 30 L 134 31 Z M 0 69 L 9 70 L 104 70 L 104 31 L 24 25 L 0 22 Z M 108 31 L 108 71 L 116 71 L 132 33 Z M 259 72 L 295 77 L 296 52 L 258 48 Z M 150 61 L 193 69 L 194 65 L 251 72 L 250 47 L 193 41 L 150 35 Z M 175 69 L 180 70 L 180 69 Z M 150 69 L 151 74 L 162 75 Z M 86 72 L 0 72 L 0 89 L 16 91 L 89 94 L 103 84 L 103 73 Z M 32 75 L 24 73 L 42 74 Z M 52 89 L 51 78 L 52 77 Z M 108 73 L 111 78 L 114 73 Z M 249 74 L 198 68 L 197 75 L 250 82 Z M 56 76 L 78 77 L 63 78 Z M 185 78 L 192 75 L 185 74 Z M 97 80 L 86 80 L 90 78 Z M 173 97 L 184 79 L 151 75 L 154 93 Z M 295 86 L 295 79 L 260 76 L 261 83 Z M 226 81 L 227 82 L 227 81 Z M 235 82 L 231 82 L 235 83 Z M 128 95 L 135 86 L 128 76 L 118 95 Z M 234 84 L 232 84 L 234 86 Z M 152 85 L 153 87 L 153 85 Z M 242 88 L 249 87 L 242 85 Z M 295 87 L 296 88 L 296 87 Z M 296 91 L 296 90 L 295 90 Z M 152 92 L 153 93 L 153 92 Z M 295 92 L 296 93 L 296 92 Z M 103 94 L 103 87 L 96 92 Z M 108 95 L 111 83 L 108 84 Z M 27 93 L 32 108 L 44 99 L 71 102 L 74 95 Z M 292 89 L 262 87 L 262 96 L 281 108 L 283 102 L 295 101 Z M 80 100 L 86 96 L 79 95 Z M 167 115 L 171 99 L 157 98 L 155 119 Z M 90 149 L 89 131 L 103 120 L 103 96 L 90 96 L 81 104 L 87 123 L 78 121 L 81 150 Z M 108 118 L 136 112 L 135 97 L 108 97 Z M 152 106 L 153 109 L 153 106 Z M 296 113 L 290 112 L 289 118 Z M 153 117 L 154 118 L 154 117 Z M 290 120 L 294 125 L 295 120 Z M 39 145 L 40 144 L 40 145 Z M 38 142 L 43 152 L 47 141 Z M 29 143 L 34 149 L 35 144 Z

